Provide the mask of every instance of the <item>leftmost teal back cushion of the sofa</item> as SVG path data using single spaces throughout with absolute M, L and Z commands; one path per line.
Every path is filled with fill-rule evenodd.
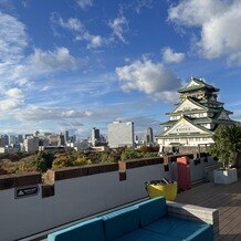
M 105 241 L 103 220 L 94 218 L 48 235 L 48 241 Z

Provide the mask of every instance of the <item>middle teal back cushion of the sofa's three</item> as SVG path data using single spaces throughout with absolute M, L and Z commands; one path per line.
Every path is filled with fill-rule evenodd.
M 102 217 L 106 241 L 117 239 L 139 227 L 139 210 L 129 207 Z

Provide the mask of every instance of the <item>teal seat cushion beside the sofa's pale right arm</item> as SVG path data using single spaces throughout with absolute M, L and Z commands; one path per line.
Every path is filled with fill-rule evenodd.
M 213 240 L 211 226 L 175 217 L 159 219 L 144 227 L 144 230 L 175 237 L 180 240 Z

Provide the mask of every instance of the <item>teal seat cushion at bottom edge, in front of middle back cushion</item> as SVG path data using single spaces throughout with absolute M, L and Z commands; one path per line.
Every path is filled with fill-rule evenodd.
M 115 241 L 180 241 L 180 239 L 138 229 L 118 239 L 115 239 Z

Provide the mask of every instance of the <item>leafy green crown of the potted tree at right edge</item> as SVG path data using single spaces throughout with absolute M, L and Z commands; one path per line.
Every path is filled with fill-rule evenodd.
M 220 125 L 214 132 L 213 140 L 209 153 L 222 161 L 223 168 L 235 165 L 238 154 L 241 153 L 241 125 Z

